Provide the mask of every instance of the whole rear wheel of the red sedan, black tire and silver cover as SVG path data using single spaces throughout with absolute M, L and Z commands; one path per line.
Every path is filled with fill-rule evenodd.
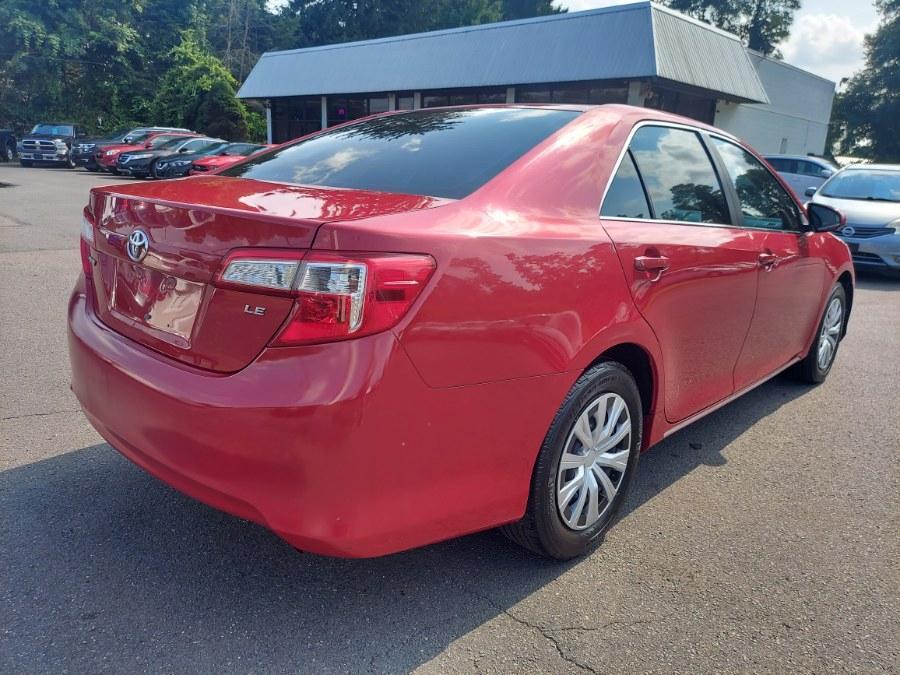
M 586 371 L 541 446 L 525 516 L 503 533 L 557 560 L 593 550 L 627 494 L 642 429 L 641 397 L 628 369 L 606 361 Z

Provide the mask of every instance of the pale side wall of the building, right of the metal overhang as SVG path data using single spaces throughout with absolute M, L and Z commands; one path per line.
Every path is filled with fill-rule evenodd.
M 763 153 L 823 154 L 834 82 L 755 52 L 750 58 L 770 103 L 720 101 L 716 126 Z

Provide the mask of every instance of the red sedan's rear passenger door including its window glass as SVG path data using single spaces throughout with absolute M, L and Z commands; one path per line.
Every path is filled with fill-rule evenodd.
M 640 126 L 601 217 L 662 349 L 666 417 L 676 422 L 729 396 L 753 316 L 764 235 L 733 225 L 701 135 Z

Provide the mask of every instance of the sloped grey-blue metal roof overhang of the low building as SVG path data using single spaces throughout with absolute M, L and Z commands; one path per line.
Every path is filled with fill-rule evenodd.
M 661 78 L 767 103 L 734 35 L 643 1 L 586 12 L 263 54 L 238 97 Z

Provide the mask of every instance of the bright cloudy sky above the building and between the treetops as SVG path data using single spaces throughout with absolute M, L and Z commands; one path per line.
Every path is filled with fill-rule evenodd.
M 557 0 L 570 12 L 631 0 Z M 802 0 L 791 35 L 781 45 L 784 60 L 836 83 L 862 68 L 863 38 L 878 25 L 872 0 Z

